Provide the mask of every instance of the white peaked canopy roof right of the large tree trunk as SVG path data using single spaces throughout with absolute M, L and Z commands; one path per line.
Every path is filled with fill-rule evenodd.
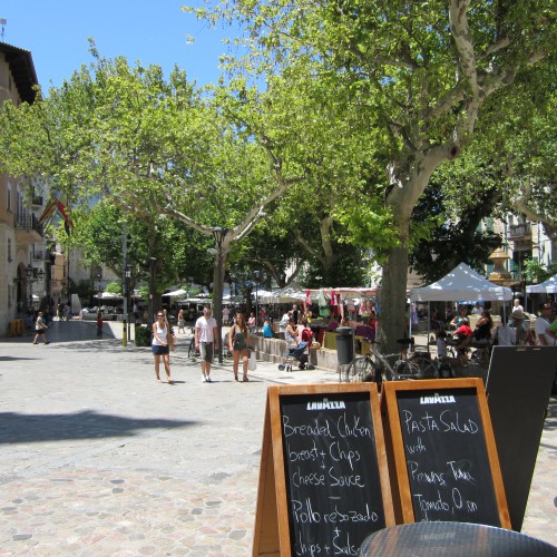
M 499 286 L 478 274 L 466 263 L 458 264 L 450 273 L 428 286 L 410 291 L 412 302 L 483 302 L 512 300 L 512 291 Z

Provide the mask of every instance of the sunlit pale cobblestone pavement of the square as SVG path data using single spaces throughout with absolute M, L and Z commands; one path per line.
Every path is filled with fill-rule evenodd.
M 225 361 L 202 383 L 179 335 L 169 385 L 94 323 L 49 333 L 0 342 L 0 556 L 251 555 L 266 389 L 336 373 L 260 362 L 236 383 Z M 553 544 L 556 407 L 522 528 Z

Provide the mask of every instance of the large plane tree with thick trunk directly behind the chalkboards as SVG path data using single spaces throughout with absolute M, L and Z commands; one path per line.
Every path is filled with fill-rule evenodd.
M 380 335 L 393 346 L 404 320 L 413 209 L 436 168 L 471 143 L 485 102 L 495 95 L 499 102 L 520 95 L 517 77 L 555 59 L 550 4 L 226 0 L 192 11 L 213 23 L 224 19 L 246 29 L 248 53 L 231 57 L 231 71 L 280 74 L 293 78 L 293 87 L 302 79 L 326 82 L 331 97 L 365 114 L 365 133 L 370 124 L 381 131 L 384 182 L 370 182 L 384 193 L 395 226 L 393 245 L 383 253 L 380 322 Z M 355 213 L 365 225 L 362 213 Z

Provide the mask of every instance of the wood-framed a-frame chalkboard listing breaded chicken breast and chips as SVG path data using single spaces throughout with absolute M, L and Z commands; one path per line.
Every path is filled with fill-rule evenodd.
M 270 387 L 253 555 L 355 555 L 393 524 L 375 384 Z

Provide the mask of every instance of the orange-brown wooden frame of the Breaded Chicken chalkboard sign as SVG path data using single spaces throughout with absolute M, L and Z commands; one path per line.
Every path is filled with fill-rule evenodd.
M 267 389 L 257 490 L 253 556 L 293 555 L 285 471 L 281 398 L 369 393 L 385 526 L 394 525 L 381 411 L 374 383 L 277 385 Z

